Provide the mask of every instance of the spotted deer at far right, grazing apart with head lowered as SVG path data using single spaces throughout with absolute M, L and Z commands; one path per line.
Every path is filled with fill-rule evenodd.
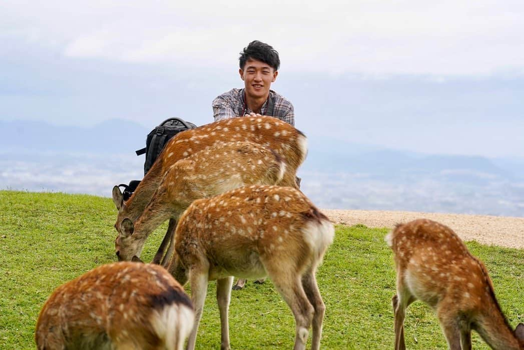
M 524 324 L 511 329 L 486 267 L 451 228 L 419 219 L 398 224 L 385 238 L 397 272 L 395 349 L 406 348 L 403 323 L 415 300 L 436 313 L 450 349 L 471 349 L 472 330 L 493 349 L 524 349 Z

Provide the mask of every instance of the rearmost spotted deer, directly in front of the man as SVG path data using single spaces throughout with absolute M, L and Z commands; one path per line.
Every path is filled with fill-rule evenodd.
M 115 224 L 117 231 L 124 218 L 135 222 L 143 213 L 163 176 L 175 162 L 216 143 L 229 141 L 251 141 L 275 151 L 286 163 L 285 172 L 277 184 L 298 188 L 295 180 L 297 169 L 305 160 L 308 151 L 304 134 L 288 123 L 268 116 L 223 119 L 185 130 L 169 140 L 126 202 L 120 189 L 116 186 L 113 188 L 113 201 L 118 210 Z M 175 226 L 176 223 L 170 220 L 165 242 L 170 240 L 169 236 Z

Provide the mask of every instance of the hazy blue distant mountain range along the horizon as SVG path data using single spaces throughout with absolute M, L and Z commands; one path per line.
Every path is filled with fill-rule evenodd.
M 142 125 L 119 119 L 93 127 L 0 121 L 0 153 L 15 155 L 18 152 L 38 151 L 134 155 L 135 150 L 145 147 L 149 132 L 150 129 Z M 395 181 L 417 175 L 439 176 L 459 182 L 475 181 L 478 184 L 494 178 L 524 179 L 524 159 L 424 155 L 322 138 L 309 140 L 308 157 L 301 169 L 325 173 L 364 173 L 372 178 Z

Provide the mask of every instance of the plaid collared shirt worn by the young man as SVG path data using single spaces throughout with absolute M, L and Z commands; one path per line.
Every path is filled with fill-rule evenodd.
M 269 94 L 274 103 L 272 116 L 294 126 L 294 109 L 291 102 L 273 90 L 269 90 Z M 267 101 L 260 108 L 260 114 L 264 115 L 266 110 Z M 232 89 L 213 100 L 213 117 L 215 122 L 221 119 L 243 117 L 252 112 L 244 105 L 244 89 Z

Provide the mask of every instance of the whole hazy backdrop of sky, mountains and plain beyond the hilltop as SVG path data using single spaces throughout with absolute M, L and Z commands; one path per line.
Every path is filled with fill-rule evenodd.
M 3 2 L 0 189 L 140 179 L 147 133 L 212 122 L 257 39 L 280 53 L 271 88 L 319 207 L 524 216 L 524 3 L 265 4 Z

